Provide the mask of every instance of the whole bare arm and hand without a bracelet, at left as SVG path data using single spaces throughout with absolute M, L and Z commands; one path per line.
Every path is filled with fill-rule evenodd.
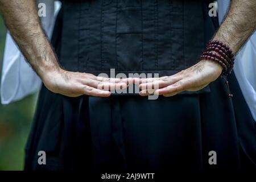
M 0 11 L 20 51 L 52 92 L 70 97 L 108 97 L 110 89 L 126 88 L 127 80 L 62 69 L 42 29 L 35 0 L 0 0 Z

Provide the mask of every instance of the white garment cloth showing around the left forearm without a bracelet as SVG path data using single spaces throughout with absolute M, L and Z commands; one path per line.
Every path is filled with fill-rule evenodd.
M 60 9 L 60 2 L 40 0 L 40 3 L 46 5 L 46 16 L 41 17 L 41 20 L 50 39 L 55 24 L 55 15 Z M 7 32 L 0 86 L 2 104 L 18 101 L 28 94 L 35 93 L 41 85 L 42 81 L 28 65 L 13 38 Z

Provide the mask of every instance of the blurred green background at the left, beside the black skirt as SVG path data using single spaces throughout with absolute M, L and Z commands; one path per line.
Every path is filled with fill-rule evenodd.
M 0 16 L 0 76 L 5 38 L 6 27 Z M 36 96 L 33 95 L 9 105 L 0 104 L 0 171 L 23 169 L 24 147 L 30 132 L 35 102 Z

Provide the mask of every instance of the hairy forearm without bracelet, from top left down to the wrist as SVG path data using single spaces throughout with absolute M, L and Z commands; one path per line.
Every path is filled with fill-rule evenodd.
M 35 0 L 0 0 L 5 24 L 28 63 L 42 78 L 59 69 L 51 44 L 42 30 Z

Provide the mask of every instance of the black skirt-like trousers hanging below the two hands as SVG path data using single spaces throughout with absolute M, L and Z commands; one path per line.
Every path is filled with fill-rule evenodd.
M 234 74 L 210 93 L 69 98 L 42 87 L 26 169 L 255 169 L 256 122 Z M 38 164 L 45 151 L 47 164 Z M 217 164 L 209 164 L 209 152 Z

